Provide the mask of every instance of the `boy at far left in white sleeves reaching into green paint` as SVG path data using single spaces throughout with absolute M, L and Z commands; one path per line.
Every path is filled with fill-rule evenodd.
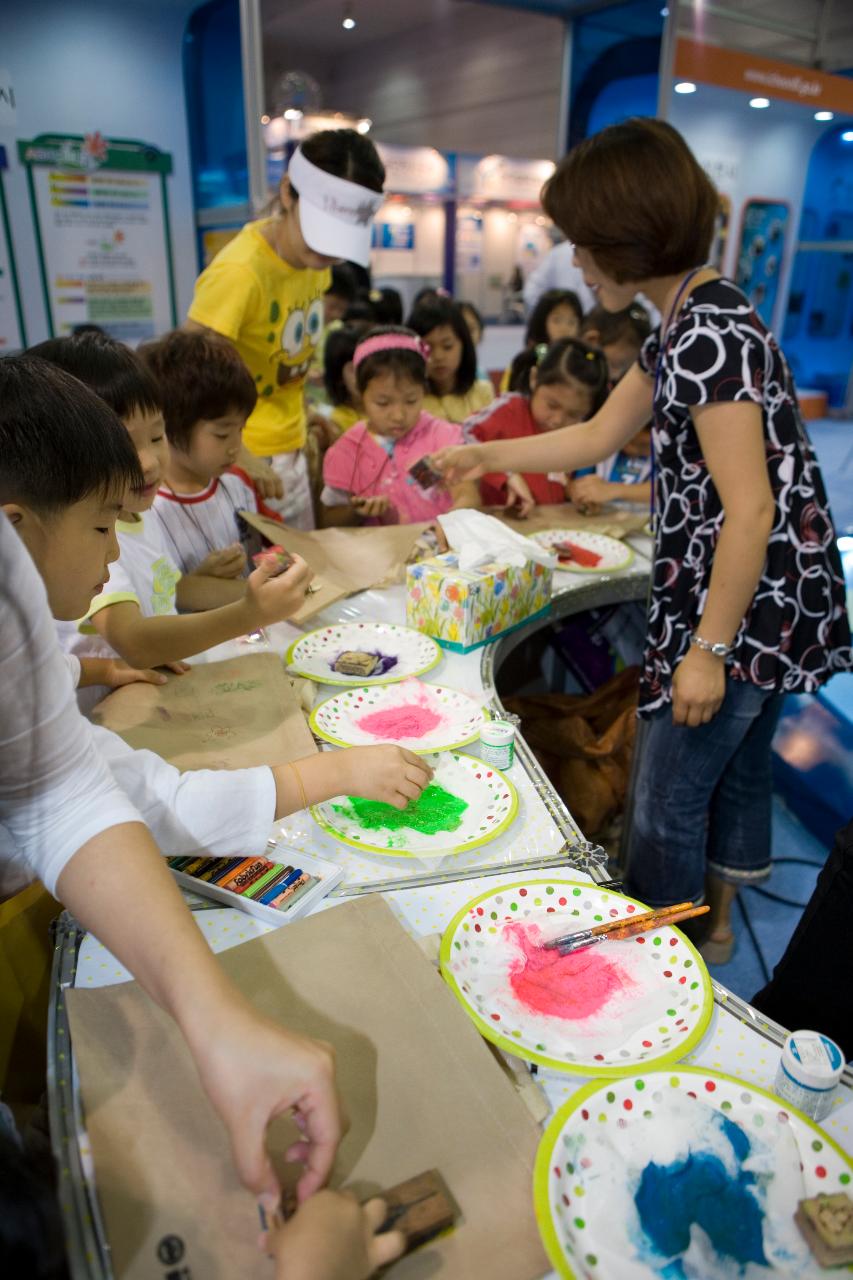
M 127 431 L 102 401 L 42 361 L 0 361 L 0 507 L 42 577 L 54 617 L 78 617 L 106 582 L 124 492 L 141 479 Z M 70 698 L 73 657 L 68 671 Z M 396 746 L 323 751 L 296 767 L 182 774 L 152 751 L 134 751 L 109 730 L 86 723 L 88 740 L 170 855 L 261 854 L 273 822 L 305 803 L 347 794 L 402 809 L 430 777 L 416 755 Z M 15 851 L 3 846 L 0 829 L 6 879 L 0 897 L 32 878 L 32 869 L 17 865 Z

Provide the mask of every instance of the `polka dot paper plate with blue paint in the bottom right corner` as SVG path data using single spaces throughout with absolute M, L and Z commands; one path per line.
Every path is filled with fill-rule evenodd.
M 539 1144 L 534 1203 L 553 1266 L 574 1280 L 818 1280 L 797 1204 L 849 1192 L 852 1170 L 772 1093 L 676 1068 L 573 1094 Z

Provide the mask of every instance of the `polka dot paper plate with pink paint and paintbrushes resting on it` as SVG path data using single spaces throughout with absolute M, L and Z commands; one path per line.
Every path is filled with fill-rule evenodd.
M 644 910 L 575 881 L 502 884 L 475 897 L 442 938 L 442 973 L 487 1039 L 575 1075 L 678 1062 L 713 1010 L 702 957 L 679 929 L 569 956 L 542 942 Z

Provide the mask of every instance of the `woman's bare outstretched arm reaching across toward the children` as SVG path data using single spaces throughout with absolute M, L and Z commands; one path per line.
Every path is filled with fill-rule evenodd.
M 634 365 L 588 422 L 515 440 L 441 449 L 432 460 L 451 485 L 491 471 L 578 471 L 619 452 L 648 422 L 653 390 L 651 378 Z

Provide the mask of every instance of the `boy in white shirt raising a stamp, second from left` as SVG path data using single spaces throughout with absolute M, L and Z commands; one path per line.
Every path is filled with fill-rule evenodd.
M 78 378 L 109 404 L 127 428 L 142 472 L 142 484 L 123 497 L 117 525 L 120 558 L 81 623 L 70 634 L 61 628 L 65 648 L 104 657 L 118 653 L 133 667 L 179 664 L 224 640 L 280 622 L 300 608 L 311 571 L 298 556 L 278 577 L 266 566 L 256 568 L 241 599 L 225 605 L 218 603 L 220 585 L 215 579 L 181 575 L 159 524 L 145 518 L 168 465 L 168 445 L 160 392 L 138 356 L 100 334 L 55 338 L 31 355 Z M 81 453 L 81 460 L 91 463 L 88 454 Z M 211 593 L 218 599 L 211 602 Z M 178 608 L 200 612 L 178 616 Z

